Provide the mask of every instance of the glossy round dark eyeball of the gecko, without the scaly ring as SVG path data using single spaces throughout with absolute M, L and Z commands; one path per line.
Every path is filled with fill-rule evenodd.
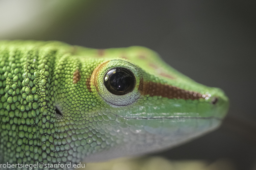
M 106 88 L 115 95 L 130 93 L 135 87 L 135 77 L 126 68 L 113 68 L 104 77 Z

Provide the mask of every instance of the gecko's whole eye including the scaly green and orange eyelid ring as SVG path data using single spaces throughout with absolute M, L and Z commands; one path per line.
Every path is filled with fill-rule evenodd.
M 112 60 L 100 64 L 91 76 L 92 92 L 111 107 L 128 106 L 141 96 L 142 75 L 134 64 Z M 98 99 L 97 99 L 98 100 Z

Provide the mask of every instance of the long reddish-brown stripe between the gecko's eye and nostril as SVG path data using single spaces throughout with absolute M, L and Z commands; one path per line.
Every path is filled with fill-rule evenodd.
M 144 82 L 143 95 L 149 94 L 149 96 L 162 96 L 167 97 L 169 99 L 192 99 L 198 100 L 200 98 L 205 98 L 207 95 L 202 95 L 197 92 L 188 91 L 180 89 L 176 86 L 172 85 L 163 85 L 161 83 L 154 83 L 154 82 Z

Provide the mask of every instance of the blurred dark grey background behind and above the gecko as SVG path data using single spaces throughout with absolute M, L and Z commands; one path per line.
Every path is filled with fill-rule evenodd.
M 256 1 L 249 0 L 0 1 L 0 39 L 141 45 L 195 81 L 222 88 L 230 111 L 221 128 L 158 155 L 224 158 L 238 170 L 256 169 L 255 21 Z

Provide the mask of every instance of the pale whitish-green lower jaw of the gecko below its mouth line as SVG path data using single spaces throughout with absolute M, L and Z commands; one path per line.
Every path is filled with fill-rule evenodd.
M 86 162 L 104 161 L 112 158 L 140 156 L 159 152 L 190 141 L 202 134 L 219 127 L 221 120 L 208 118 L 149 118 L 127 119 L 127 121 L 144 122 L 144 126 L 130 126 L 121 143 L 108 150 L 89 155 Z

